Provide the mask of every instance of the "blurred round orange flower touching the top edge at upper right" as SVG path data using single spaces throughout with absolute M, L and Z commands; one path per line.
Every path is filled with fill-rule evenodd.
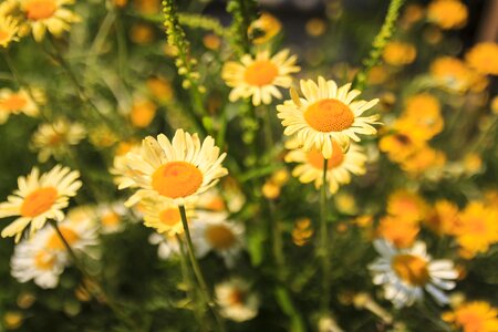
M 459 0 L 434 0 L 427 7 L 427 20 L 445 30 L 465 27 L 467 17 L 467 7 Z

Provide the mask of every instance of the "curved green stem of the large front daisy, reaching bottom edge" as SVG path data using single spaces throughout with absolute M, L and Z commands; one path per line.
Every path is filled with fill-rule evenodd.
M 218 331 L 225 331 L 224 321 L 218 313 L 216 303 L 212 300 L 212 297 L 206 283 L 206 279 L 204 278 L 203 271 L 200 270 L 199 263 L 197 262 L 196 256 L 194 253 L 194 243 L 191 242 L 190 229 L 188 228 L 187 212 L 185 211 L 185 206 L 180 205 L 178 206 L 178 209 L 181 216 L 181 224 L 184 226 L 185 239 L 187 242 L 187 251 L 190 258 L 190 264 L 194 270 L 194 274 L 196 276 L 197 282 L 199 283 L 200 293 L 204 298 L 204 301 L 208 305 L 209 310 L 212 312 L 212 315 L 215 317 L 216 323 L 218 325 Z

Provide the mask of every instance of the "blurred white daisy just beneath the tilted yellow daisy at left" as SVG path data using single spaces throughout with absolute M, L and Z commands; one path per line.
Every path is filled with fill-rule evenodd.
M 51 231 L 51 228 L 45 228 L 15 246 L 10 266 L 12 277 L 19 282 L 33 280 L 44 289 L 58 286 L 69 258 L 46 248 Z

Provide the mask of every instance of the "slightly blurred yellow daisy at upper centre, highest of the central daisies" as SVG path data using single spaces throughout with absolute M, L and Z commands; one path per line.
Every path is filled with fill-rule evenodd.
M 256 58 L 243 55 L 239 62 L 227 62 L 224 65 L 221 76 L 228 86 L 234 87 L 229 100 L 235 102 L 239 98 L 252 96 L 252 104 L 270 104 L 271 97 L 282 98 L 277 89 L 290 87 L 292 77 L 290 74 L 301 69 L 295 65 L 298 58 L 289 56 L 289 50 L 283 50 L 273 56 L 269 51 L 258 52 Z

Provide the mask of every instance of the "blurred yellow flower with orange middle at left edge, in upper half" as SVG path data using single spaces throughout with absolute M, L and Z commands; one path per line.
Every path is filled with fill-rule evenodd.
M 37 95 L 42 98 L 40 92 Z M 39 113 L 37 103 L 22 89 L 18 92 L 10 89 L 0 89 L 0 124 L 6 123 L 10 114 L 19 113 L 37 116 Z

